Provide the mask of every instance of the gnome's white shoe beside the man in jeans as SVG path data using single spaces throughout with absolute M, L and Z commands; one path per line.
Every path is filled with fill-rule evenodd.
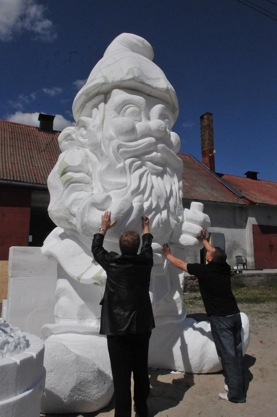
M 249 345 L 249 320 L 241 313 L 243 352 Z M 160 323 L 167 317 L 159 318 Z M 175 323 L 158 325 L 150 338 L 148 366 L 191 372 L 218 372 L 222 369 L 208 320 L 197 322 L 183 316 Z

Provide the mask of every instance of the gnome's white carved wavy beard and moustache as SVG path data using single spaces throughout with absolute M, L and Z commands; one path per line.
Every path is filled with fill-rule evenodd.
M 165 238 L 180 221 L 182 162 L 164 143 L 154 138 L 137 142 L 113 139 L 105 149 L 102 186 L 112 200 L 129 198 L 143 205 L 155 237 Z M 128 219 L 125 219 L 128 222 Z

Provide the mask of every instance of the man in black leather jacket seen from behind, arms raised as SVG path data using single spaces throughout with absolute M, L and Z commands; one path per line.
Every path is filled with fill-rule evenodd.
M 115 417 L 131 417 L 131 372 L 134 378 L 134 402 L 139 417 L 147 417 L 146 400 L 149 395 L 148 347 L 151 331 L 155 327 L 149 295 L 153 251 L 153 236 L 149 219 L 142 218 L 142 246 L 137 232 L 121 235 L 121 255 L 103 248 L 111 212 L 102 215 L 101 228 L 93 237 L 94 259 L 107 273 L 101 300 L 100 334 L 107 335 L 107 344 L 114 382 Z

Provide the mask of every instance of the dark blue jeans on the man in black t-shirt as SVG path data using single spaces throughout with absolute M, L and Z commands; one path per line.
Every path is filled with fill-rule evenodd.
M 211 333 L 218 356 L 221 357 L 225 383 L 228 385 L 228 400 L 244 402 L 244 370 L 242 356 L 241 314 L 226 317 L 209 317 Z

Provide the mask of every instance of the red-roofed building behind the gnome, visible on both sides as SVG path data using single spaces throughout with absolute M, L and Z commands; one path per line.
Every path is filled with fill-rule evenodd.
M 0 277 L 5 279 L 10 246 L 41 246 L 55 227 L 47 211 L 47 178 L 60 154 L 53 119 L 41 114 L 39 127 L 0 121 Z M 235 256 L 243 255 L 248 268 L 277 268 L 277 183 L 259 180 L 255 172 L 216 174 L 212 114 L 200 119 L 202 162 L 179 154 L 183 206 L 204 204 L 211 242 L 224 246 L 232 267 Z

